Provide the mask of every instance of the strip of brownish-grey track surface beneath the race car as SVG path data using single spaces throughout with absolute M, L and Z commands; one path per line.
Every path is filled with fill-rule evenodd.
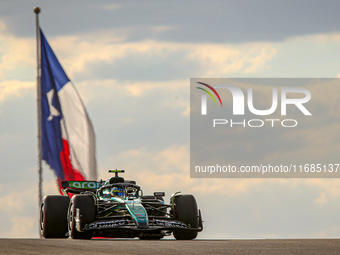
M 340 239 L 0 239 L 0 254 L 340 254 Z

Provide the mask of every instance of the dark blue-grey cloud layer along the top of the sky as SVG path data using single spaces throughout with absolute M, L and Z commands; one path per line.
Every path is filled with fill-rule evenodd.
M 282 41 L 297 35 L 338 31 L 337 3 L 334 1 L 73 1 L 38 0 L 40 20 L 57 34 L 132 28 L 130 40 L 154 37 L 159 41 L 181 42 L 252 42 Z M 0 13 L 11 31 L 31 36 L 32 3 L 2 1 Z M 80 8 L 81 6 L 81 8 Z M 146 15 L 147 14 L 147 15 Z M 154 26 L 177 29 L 154 34 Z

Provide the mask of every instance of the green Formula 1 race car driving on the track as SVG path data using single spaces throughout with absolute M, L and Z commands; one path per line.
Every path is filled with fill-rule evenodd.
M 115 176 L 106 182 L 63 181 L 64 195 L 45 196 L 40 213 L 42 236 L 157 240 L 173 233 L 177 240 L 191 240 L 203 230 L 194 196 L 176 192 L 170 204 L 165 204 L 164 192 L 145 196 L 135 181 L 118 176 L 124 170 L 109 172 Z

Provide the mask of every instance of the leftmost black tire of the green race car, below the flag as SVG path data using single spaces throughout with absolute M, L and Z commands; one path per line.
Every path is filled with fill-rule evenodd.
M 40 230 L 45 238 L 67 238 L 67 209 L 70 198 L 46 196 L 40 207 Z

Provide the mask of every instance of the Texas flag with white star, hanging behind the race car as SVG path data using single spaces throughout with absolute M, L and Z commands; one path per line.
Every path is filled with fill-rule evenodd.
M 40 29 L 42 158 L 59 184 L 96 180 L 95 134 L 84 104 Z

